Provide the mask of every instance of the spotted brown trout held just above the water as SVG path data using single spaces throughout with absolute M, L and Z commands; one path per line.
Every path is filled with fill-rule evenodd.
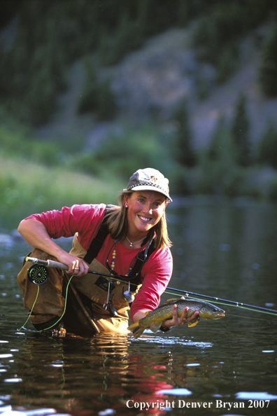
M 190 318 L 194 312 L 199 311 L 199 315 L 196 318 L 192 319 L 187 323 L 188 326 L 195 326 L 198 324 L 199 319 L 220 319 L 225 317 L 225 311 L 216 307 L 211 303 L 205 302 L 205 300 L 196 300 L 196 299 L 169 299 L 166 300 L 164 305 L 159 305 L 155 310 L 146 312 L 147 316 L 145 318 L 139 319 L 134 324 L 129 326 L 129 331 L 134 333 L 135 338 L 143 333 L 143 331 L 150 326 L 152 332 L 156 332 L 162 322 L 166 319 L 172 318 L 173 305 L 177 305 L 177 313 L 180 318 L 181 314 L 185 307 L 188 307 L 187 318 Z

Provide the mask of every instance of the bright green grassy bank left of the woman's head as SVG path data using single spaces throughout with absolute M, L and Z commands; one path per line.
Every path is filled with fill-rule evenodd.
M 125 184 L 62 167 L 6 158 L 0 153 L 0 230 L 17 228 L 25 216 L 82 203 L 116 203 Z

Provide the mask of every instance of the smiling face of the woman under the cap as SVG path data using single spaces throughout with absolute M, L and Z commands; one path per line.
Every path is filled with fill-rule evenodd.
M 166 205 L 166 197 L 155 190 L 137 190 L 131 196 L 125 195 L 128 233 L 148 233 L 161 219 Z

